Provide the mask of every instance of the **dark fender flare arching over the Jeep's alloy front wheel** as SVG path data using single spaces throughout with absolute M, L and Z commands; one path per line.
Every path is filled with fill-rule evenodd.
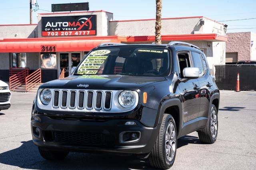
M 179 109 L 179 131 L 178 131 L 178 134 L 179 135 L 181 133 L 181 127 L 182 127 L 182 107 L 181 107 L 181 102 L 180 102 L 180 99 L 179 98 L 172 98 L 172 99 L 169 99 L 169 100 L 166 100 L 162 103 L 161 107 L 158 109 L 158 121 L 156 122 L 157 124 L 161 124 L 162 123 L 162 119 L 163 119 L 163 116 L 164 116 L 164 111 L 168 108 L 168 107 L 171 107 L 171 106 L 178 106 L 178 109 Z M 177 123 L 176 123 L 177 124 Z

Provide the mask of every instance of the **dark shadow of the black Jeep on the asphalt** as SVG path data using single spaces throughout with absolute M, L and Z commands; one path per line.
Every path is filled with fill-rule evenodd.
M 87 169 L 87 170 L 153 170 L 143 159 L 135 156 L 117 156 L 112 154 L 86 154 L 70 152 L 66 159 L 49 161 L 42 158 L 32 140 L 21 142 L 16 149 L 0 154 L 0 164 L 25 169 Z M 197 137 L 184 136 L 178 140 L 178 148 L 189 143 L 200 143 Z

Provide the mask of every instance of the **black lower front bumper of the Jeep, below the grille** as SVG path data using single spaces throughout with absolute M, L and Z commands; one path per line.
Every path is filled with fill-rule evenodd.
M 130 118 L 77 120 L 74 117 L 60 119 L 40 114 L 33 117 L 36 117 L 31 120 L 33 142 L 46 150 L 144 154 L 154 147 L 159 131 L 158 127 L 146 127 L 140 121 Z M 137 125 L 124 125 L 126 121 L 135 121 Z M 34 135 L 35 127 L 40 129 L 39 136 Z M 121 143 L 120 133 L 124 131 L 140 132 L 139 141 Z M 59 137 L 63 141 L 57 140 Z M 86 143 L 81 142 L 82 140 Z

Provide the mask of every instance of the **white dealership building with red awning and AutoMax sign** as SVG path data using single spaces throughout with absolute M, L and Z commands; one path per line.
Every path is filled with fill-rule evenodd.
M 71 72 L 94 47 L 104 42 L 153 43 L 155 19 L 113 20 L 106 11 L 38 14 L 38 24 L 0 25 L 0 80 L 10 72 L 40 69 L 42 82 Z M 212 73 L 226 61 L 226 25 L 203 16 L 162 18 L 162 43 L 185 41 L 207 56 Z

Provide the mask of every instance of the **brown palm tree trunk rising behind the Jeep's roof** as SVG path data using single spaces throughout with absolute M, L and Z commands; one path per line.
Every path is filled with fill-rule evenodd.
M 156 0 L 156 32 L 155 32 L 155 44 L 161 44 L 161 28 L 162 28 L 162 0 Z M 161 67 L 161 59 L 156 59 L 156 69 Z

